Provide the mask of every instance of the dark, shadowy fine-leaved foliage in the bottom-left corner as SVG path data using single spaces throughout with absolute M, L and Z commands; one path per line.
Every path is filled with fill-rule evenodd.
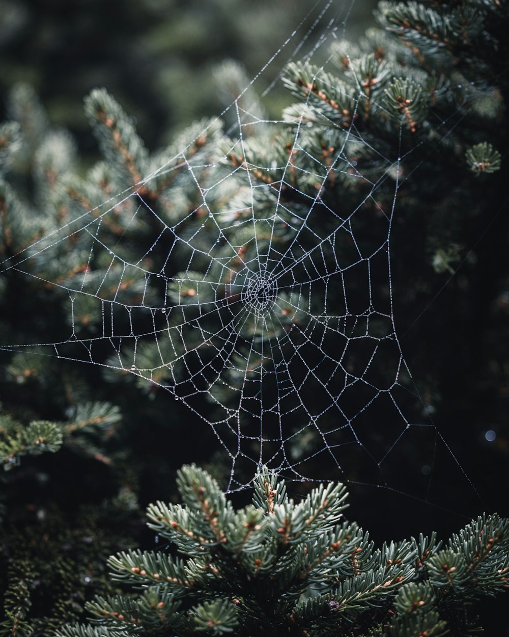
M 106 559 L 136 546 L 137 506 L 123 491 L 74 511 L 34 502 L 11 508 L 0 531 L 0 635 L 51 637 L 81 619 L 95 594 L 114 592 Z

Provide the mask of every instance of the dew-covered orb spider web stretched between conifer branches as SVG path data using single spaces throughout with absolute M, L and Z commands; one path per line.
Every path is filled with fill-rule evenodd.
M 253 82 L 295 41 L 290 59 L 298 55 L 332 6 L 310 14 L 304 35 L 295 31 Z M 335 24 L 307 59 L 340 37 Z M 58 342 L 1 348 L 166 390 L 213 429 L 231 463 L 228 490 L 267 464 L 296 480 L 426 499 L 437 445 L 463 470 L 429 417 L 415 416 L 423 403 L 396 336 L 389 240 L 409 153 L 372 148 L 352 118 L 319 161 L 305 118 L 260 115 L 247 99 L 253 82 L 221 114 L 228 136 L 219 119 L 196 125 L 192 143 L 153 157 L 134 188 L 106 201 L 99 190 L 97 204 L 81 201 L 69 222 L 4 262 L 66 294 L 70 326 Z M 359 166 L 359 147 L 376 171 Z M 345 205 L 326 197 L 335 178 L 349 188 Z M 83 317 L 95 317 L 94 334 Z

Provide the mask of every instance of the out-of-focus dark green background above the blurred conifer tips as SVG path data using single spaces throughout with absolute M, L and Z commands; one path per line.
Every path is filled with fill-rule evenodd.
M 308 13 L 319 15 L 316 6 L 295 0 L 242 6 L 237 0 L 1 0 L 0 92 L 15 82 L 31 83 L 52 121 L 77 134 L 93 155 L 76 105 L 94 87 L 107 87 L 136 117 L 148 147 L 159 147 L 183 125 L 223 110 L 214 66 L 233 58 L 254 77 Z M 373 21 L 374 6 L 373 0 L 338 4 L 335 14 L 356 33 Z M 317 31 L 324 26 L 323 19 Z M 258 91 L 279 73 L 306 29 L 297 29 Z M 299 55 L 312 45 L 310 38 Z M 265 106 L 279 117 L 287 103 L 279 85 Z

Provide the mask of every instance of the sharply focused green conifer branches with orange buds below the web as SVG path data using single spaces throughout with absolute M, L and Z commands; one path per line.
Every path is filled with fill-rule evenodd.
M 464 634 L 473 627 L 466 606 L 506 587 L 509 520 L 498 515 L 478 517 L 444 546 L 432 534 L 375 548 L 342 520 L 341 484 L 295 502 L 263 468 L 253 505 L 237 512 L 194 465 L 179 471 L 178 489 L 183 504 L 150 505 L 148 526 L 179 555 L 111 557 L 114 580 L 130 591 L 95 599 L 94 623 L 59 637 Z

